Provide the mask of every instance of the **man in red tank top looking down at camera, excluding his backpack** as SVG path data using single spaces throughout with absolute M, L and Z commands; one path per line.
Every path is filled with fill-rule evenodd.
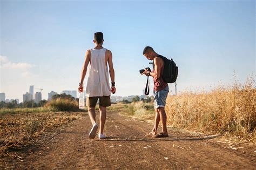
M 168 84 L 163 79 L 163 73 L 164 73 L 164 59 L 166 59 L 163 56 L 158 55 L 152 47 L 146 46 L 143 50 L 143 55 L 149 59 L 153 60 L 153 71 L 148 71 L 145 69 L 145 71 L 142 74 L 145 74 L 146 76 L 152 76 L 154 80 L 154 108 L 156 111 L 156 117 L 154 121 L 154 127 L 153 130 L 149 133 L 149 135 L 152 135 L 152 137 L 155 138 L 164 138 L 168 137 L 167 133 L 167 127 L 166 127 L 166 113 L 165 113 L 165 103 L 167 94 L 169 92 Z M 161 120 L 162 123 L 162 131 L 161 133 L 157 134 L 157 128 L 159 125 L 159 122 Z

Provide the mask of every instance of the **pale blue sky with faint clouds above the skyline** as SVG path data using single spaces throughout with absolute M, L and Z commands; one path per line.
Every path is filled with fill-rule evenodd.
M 43 99 L 77 90 L 97 31 L 113 54 L 117 96 L 142 94 L 147 45 L 174 59 L 179 92 L 232 85 L 234 70 L 241 82 L 256 72 L 254 1 L 1 0 L 0 92 L 22 101 L 29 85 L 44 89 Z

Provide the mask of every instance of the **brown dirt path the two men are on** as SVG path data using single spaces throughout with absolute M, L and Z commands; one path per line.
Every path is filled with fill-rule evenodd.
M 256 169 L 254 145 L 235 150 L 219 142 L 217 136 L 182 133 L 171 128 L 169 138 L 144 138 L 152 126 L 146 121 L 109 113 L 105 126 L 108 138 L 90 140 L 91 123 L 86 116 L 31 148 L 9 168 Z

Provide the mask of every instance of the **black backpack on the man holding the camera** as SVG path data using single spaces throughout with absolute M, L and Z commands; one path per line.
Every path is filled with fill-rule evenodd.
M 157 56 L 164 60 L 164 73 L 163 79 L 166 83 L 174 83 L 178 77 L 178 67 L 171 59 L 167 59 L 164 56 Z

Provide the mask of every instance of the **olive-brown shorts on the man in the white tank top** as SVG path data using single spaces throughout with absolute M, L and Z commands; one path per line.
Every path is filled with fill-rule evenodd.
M 95 107 L 99 98 L 99 106 L 107 107 L 111 106 L 110 96 L 96 96 L 96 97 L 86 97 L 86 106 Z

